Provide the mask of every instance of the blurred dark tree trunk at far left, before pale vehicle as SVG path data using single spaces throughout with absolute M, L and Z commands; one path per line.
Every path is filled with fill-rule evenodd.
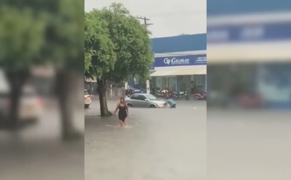
M 25 81 L 29 78 L 29 70 L 21 71 L 6 71 L 7 80 L 10 84 L 9 95 L 9 116 L 7 119 L 7 127 L 11 130 L 16 130 L 19 124 L 19 103 L 22 93 L 22 88 Z

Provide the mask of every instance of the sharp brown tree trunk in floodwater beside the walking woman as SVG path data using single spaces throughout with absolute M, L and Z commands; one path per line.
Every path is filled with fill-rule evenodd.
M 112 116 L 112 113 L 108 110 L 107 107 L 107 100 L 106 100 L 106 82 L 103 81 L 103 79 L 97 80 L 98 87 L 98 95 L 99 95 L 99 101 L 100 101 L 100 112 L 101 117 L 105 116 Z

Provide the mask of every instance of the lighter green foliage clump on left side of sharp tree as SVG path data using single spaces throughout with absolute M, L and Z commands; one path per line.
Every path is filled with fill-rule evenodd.
M 101 13 L 85 13 L 85 76 L 100 77 L 114 67 L 116 53 Z

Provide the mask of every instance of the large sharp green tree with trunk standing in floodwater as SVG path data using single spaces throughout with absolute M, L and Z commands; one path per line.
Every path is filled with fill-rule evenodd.
M 113 3 L 88 14 L 98 21 L 95 24 L 102 26 L 102 30 L 96 32 L 102 33 L 103 38 L 98 40 L 98 44 L 102 44 L 98 49 L 86 47 L 88 42 L 85 42 L 85 49 L 96 50 L 103 56 L 92 56 L 91 70 L 87 72 L 97 77 L 101 116 L 108 116 L 111 113 L 106 103 L 106 83 L 148 76 L 153 62 L 150 32 L 122 4 Z

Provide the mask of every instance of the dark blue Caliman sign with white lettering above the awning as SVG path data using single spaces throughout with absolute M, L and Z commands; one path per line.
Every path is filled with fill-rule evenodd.
M 155 67 L 206 65 L 205 55 L 184 55 L 155 58 Z

